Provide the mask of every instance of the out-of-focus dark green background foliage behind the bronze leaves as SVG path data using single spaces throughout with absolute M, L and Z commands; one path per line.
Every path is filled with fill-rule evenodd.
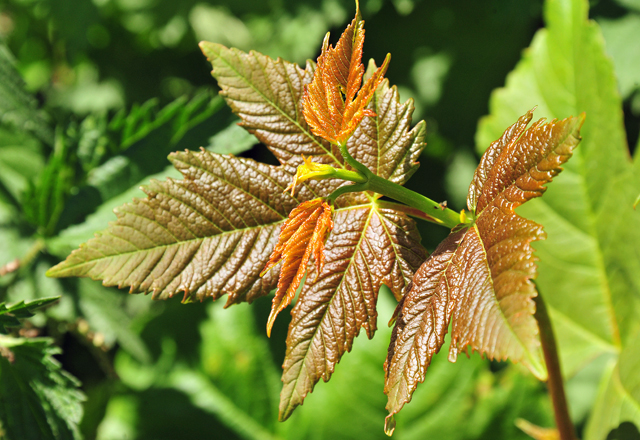
M 640 41 L 640 3 L 591 6 L 615 65 L 633 150 L 640 45 L 630 42 Z M 459 210 L 477 164 L 478 120 L 543 25 L 541 2 L 362 0 L 361 8 L 365 57 L 380 62 L 392 53 L 390 83 L 403 100 L 415 99 L 414 121 L 427 121 L 428 145 L 409 186 Z M 69 438 L 383 438 L 382 362 L 390 334 L 383 324 L 373 340 L 358 338 L 331 381 L 280 424 L 288 322 L 276 322 L 266 338 L 268 299 L 228 310 L 153 303 L 90 280 L 44 276 L 104 229 L 113 208 L 142 197 L 140 184 L 175 177 L 167 168 L 171 151 L 205 147 L 273 162 L 266 149 L 251 149 L 254 138 L 234 125 L 216 96 L 199 40 L 303 63 L 318 55 L 327 30 L 337 40 L 354 10 L 341 0 L 0 2 L 0 302 L 61 296 L 25 324 L 52 339 L 15 330 L 12 341 L 21 342 L 11 343 L 20 348 L 9 350 L 24 353 L 29 365 L 40 359 L 44 370 L 34 374 L 57 381 L 54 391 L 68 387 L 54 398 L 76 402 L 70 426 L 79 428 L 65 431 Z M 428 249 L 447 232 L 420 227 Z M 386 291 L 380 301 L 384 323 L 394 304 Z M 636 352 L 632 346 L 615 368 L 601 360 L 569 380 L 580 430 L 596 394 L 627 380 Z M 82 383 L 82 420 L 75 379 L 52 355 Z M 15 364 L 4 356 L 0 362 L 1 382 Z M 598 391 L 602 374 L 618 382 Z M 527 438 L 514 425 L 517 417 L 553 423 L 544 386 L 520 367 L 477 356 L 449 364 L 438 356 L 398 418 L 396 437 Z M 2 414 L 0 421 L 0 437 L 41 438 L 11 431 Z

